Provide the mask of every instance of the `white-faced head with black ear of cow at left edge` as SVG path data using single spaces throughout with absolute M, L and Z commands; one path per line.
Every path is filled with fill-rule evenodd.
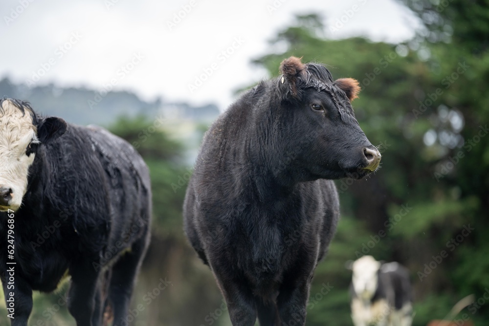
M 27 102 L 0 100 L 0 211 L 19 209 L 39 147 L 66 129 L 64 120 L 40 118 Z

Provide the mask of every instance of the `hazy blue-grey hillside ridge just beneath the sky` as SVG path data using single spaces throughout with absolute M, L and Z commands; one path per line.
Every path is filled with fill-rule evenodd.
M 107 126 L 122 115 L 145 115 L 149 118 L 158 115 L 167 120 L 209 123 L 219 114 L 219 109 L 213 104 L 194 107 L 187 103 L 165 102 L 161 98 L 147 102 L 129 91 L 101 92 L 54 84 L 28 87 L 14 84 L 7 77 L 0 80 L 0 96 L 29 101 L 39 113 L 59 116 L 78 125 Z

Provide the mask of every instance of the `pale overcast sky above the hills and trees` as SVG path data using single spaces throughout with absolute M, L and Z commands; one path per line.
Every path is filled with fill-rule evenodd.
M 267 78 L 250 60 L 269 53 L 296 13 L 321 14 L 331 38 L 398 43 L 419 26 L 396 0 L 2 0 L 0 12 L 0 77 L 220 109 L 233 90 Z

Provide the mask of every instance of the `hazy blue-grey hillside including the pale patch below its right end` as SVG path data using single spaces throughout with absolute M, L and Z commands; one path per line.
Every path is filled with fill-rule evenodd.
M 146 117 L 154 120 L 150 130 L 142 129 L 136 137 L 139 141 L 148 137 L 151 130 L 165 128 L 171 138 L 183 141 L 184 163 L 192 165 L 199 149 L 202 128 L 219 115 L 214 104 L 192 106 L 188 103 L 167 102 L 157 98 L 153 102 L 140 99 L 129 91 L 109 91 L 89 88 L 58 87 L 54 84 L 28 87 L 14 84 L 7 77 L 0 80 L 0 96 L 28 101 L 32 108 L 44 116 L 62 117 L 78 125 L 109 126 L 121 116 L 129 119 Z

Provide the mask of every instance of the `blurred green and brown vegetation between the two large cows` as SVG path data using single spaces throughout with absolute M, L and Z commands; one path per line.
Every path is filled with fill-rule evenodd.
M 152 240 L 133 298 L 133 306 L 141 304 L 144 311 L 136 321 L 165 326 L 206 324 L 209 314 L 221 306 L 221 294 L 209 268 L 197 259 L 183 234 L 182 203 L 192 174 L 183 163 L 183 145 L 167 134 L 157 118 L 121 117 L 110 130 L 141 154 L 152 183 Z M 170 282 L 164 290 L 158 288 L 161 280 Z M 221 322 L 225 318 L 214 320 L 214 325 Z

